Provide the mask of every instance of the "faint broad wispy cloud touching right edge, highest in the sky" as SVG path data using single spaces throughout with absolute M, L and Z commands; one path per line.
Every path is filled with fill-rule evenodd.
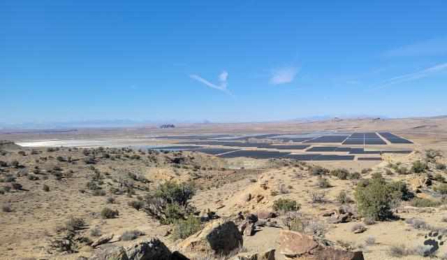
M 386 50 L 382 53 L 383 57 L 404 57 L 404 56 L 423 56 L 423 55 L 441 55 L 447 53 L 447 37 L 432 38 L 419 43 Z

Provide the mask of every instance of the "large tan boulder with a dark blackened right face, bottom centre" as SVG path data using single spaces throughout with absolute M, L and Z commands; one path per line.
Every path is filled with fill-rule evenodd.
M 242 234 L 235 223 L 227 219 L 217 219 L 177 244 L 176 247 L 184 256 L 197 258 L 226 255 L 242 248 L 242 245 Z

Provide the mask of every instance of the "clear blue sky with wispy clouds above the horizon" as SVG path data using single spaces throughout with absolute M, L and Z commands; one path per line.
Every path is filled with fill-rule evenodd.
M 447 114 L 446 1 L 0 2 L 0 122 Z

